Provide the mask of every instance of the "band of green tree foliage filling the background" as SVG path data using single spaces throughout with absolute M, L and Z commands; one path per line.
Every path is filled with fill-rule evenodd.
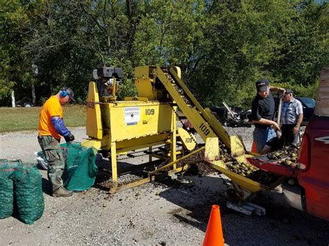
M 119 97 L 135 96 L 134 67 L 176 65 L 204 106 L 249 107 L 266 77 L 314 96 L 328 65 L 325 1 L 0 1 L 0 105 L 63 85 L 85 100 L 92 71 L 122 67 Z M 37 69 L 35 69 L 37 68 Z M 280 84 L 279 84 L 280 83 Z

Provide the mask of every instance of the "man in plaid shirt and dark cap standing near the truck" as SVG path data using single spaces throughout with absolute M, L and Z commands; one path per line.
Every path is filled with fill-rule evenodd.
M 303 121 L 303 106 L 294 98 L 292 89 L 286 89 L 283 96 L 281 123 L 282 137 L 285 137 L 285 145 L 301 142 L 301 123 Z

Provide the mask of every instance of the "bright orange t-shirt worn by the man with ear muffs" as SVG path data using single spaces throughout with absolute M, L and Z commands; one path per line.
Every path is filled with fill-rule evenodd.
M 60 139 L 60 134 L 56 132 L 51 117 L 59 116 L 62 118 L 62 105 L 56 96 L 51 96 L 44 103 L 39 116 L 39 136 L 53 136 L 55 139 Z

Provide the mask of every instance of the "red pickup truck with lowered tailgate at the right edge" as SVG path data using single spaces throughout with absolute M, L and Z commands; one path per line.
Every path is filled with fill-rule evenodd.
M 303 134 L 298 165 L 282 166 L 265 155 L 248 160 L 289 179 L 282 192 L 292 207 L 329 220 L 329 67 L 321 71 L 317 106 Z

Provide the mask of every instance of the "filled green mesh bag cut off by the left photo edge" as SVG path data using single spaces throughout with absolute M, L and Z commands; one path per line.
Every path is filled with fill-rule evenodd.
M 14 182 L 10 175 L 20 161 L 0 159 L 0 219 L 12 216 L 14 210 Z

